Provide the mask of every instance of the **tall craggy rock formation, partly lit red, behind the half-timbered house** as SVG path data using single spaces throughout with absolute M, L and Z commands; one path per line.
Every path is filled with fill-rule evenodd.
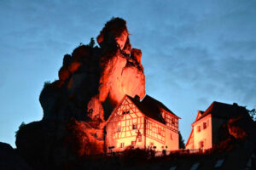
M 109 20 L 96 40 L 100 47 L 90 42 L 64 55 L 59 80 L 45 83 L 39 97 L 42 121 L 20 127 L 17 149 L 32 167 L 61 168 L 104 152 L 104 122 L 113 108 L 125 94 L 143 99 L 142 52 L 131 48 L 125 20 Z

